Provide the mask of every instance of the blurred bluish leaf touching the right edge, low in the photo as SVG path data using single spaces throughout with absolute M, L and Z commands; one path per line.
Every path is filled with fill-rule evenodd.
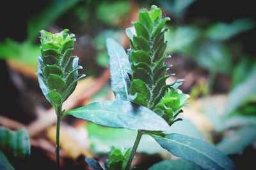
M 216 146 L 227 155 L 242 152 L 246 146 L 256 141 L 256 131 L 254 126 L 242 127 L 232 131 L 225 136 Z

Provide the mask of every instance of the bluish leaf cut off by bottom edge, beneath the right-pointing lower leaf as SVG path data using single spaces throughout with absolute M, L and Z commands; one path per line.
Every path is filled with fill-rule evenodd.
M 176 159 L 176 160 L 163 160 L 154 164 L 154 166 L 150 167 L 148 170 L 200 170 L 201 168 L 198 167 L 196 164 L 189 162 L 185 159 Z

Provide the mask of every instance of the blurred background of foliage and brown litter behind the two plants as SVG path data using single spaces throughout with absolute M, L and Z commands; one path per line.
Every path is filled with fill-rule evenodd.
M 16 169 L 55 169 L 54 110 L 44 98 L 36 78 L 39 31 L 65 28 L 76 34 L 74 55 L 87 76 L 65 103 L 67 110 L 114 99 L 109 85 L 106 38 L 126 49 L 125 28 L 137 20 L 140 8 L 152 4 L 163 9 L 168 22 L 166 53 L 172 73 L 184 78 L 190 94 L 182 122 L 170 129 L 216 145 L 236 163 L 237 169 L 256 169 L 256 15 L 253 1 L 4 1 L 1 7 L 0 125 L 26 127 L 31 156 L 8 157 Z M 109 146 L 131 147 L 136 132 L 100 127 L 64 117 L 61 122 L 63 169 L 86 169 L 84 157 L 102 164 Z M 144 136 L 134 160 L 147 169 L 163 159 L 176 159 L 149 136 Z

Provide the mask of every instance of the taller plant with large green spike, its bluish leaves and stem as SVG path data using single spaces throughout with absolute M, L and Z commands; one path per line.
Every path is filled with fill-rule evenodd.
M 119 169 L 131 168 L 143 134 L 152 136 L 174 155 L 204 169 L 234 169 L 232 161 L 214 146 L 182 134 L 164 133 L 174 122 L 181 120 L 179 113 L 189 97 L 177 89 L 182 80 L 166 84 L 166 79 L 172 76 L 165 75 L 168 66 L 164 64 L 170 58 L 164 55 L 167 43 L 164 41 L 164 25 L 168 20 L 170 18 L 163 18 L 161 9 L 156 6 L 150 11 L 141 10 L 139 22 L 133 22 L 134 27 L 126 30 L 131 42 L 127 53 L 113 39 L 107 39 L 111 87 L 116 101 L 92 103 L 65 114 L 99 125 L 138 131 L 129 159 L 123 159 L 126 165 Z M 95 160 L 86 159 L 86 162 L 94 169 L 102 169 Z

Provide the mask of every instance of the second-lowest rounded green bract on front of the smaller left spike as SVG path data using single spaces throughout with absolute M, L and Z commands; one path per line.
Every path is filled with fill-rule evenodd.
M 63 94 L 64 90 L 67 89 L 65 81 L 57 74 L 50 74 L 47 79 L 47 85 L 53 91 Z

